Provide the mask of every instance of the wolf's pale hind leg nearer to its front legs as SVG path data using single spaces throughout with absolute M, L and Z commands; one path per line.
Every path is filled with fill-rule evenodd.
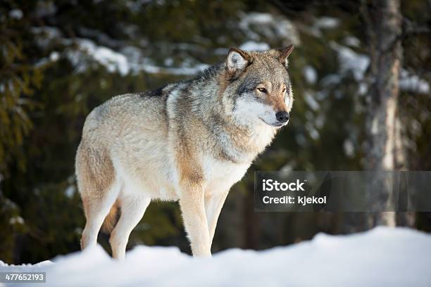
M 125 248 L 132 230 L 137 226 L 144 216 L 151 198 L 135 198 L 133 196 L 123 196 L 118 198 L 121 215 L 117 225 L 111 233 L 109 243 L 111 243 L 112 256 L 118 260 L 125 259 Z

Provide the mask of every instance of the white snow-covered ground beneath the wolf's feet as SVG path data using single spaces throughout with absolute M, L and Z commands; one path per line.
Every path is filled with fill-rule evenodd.
M 431 286 L 431 235 L 379 227 L 264 251 L 230 249 L 212 259 L 139 246 L 123 263 L 97 246 L 35 265 L 0 261 L 7 271 L 46 272 L 43 286 Z

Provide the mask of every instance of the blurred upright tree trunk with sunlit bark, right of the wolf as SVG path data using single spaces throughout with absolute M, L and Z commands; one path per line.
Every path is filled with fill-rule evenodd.
M 406 157 L 398 115 L 399 74 L 401 70 L 401 12 L 399 0 L 375 0 L 363 6 L 370 48 L 370 97 L 366 115 L 366 170 L 405 170 Z M 393 194 L 383 184 L 388 178 L 375 175 L 371 200 L 375 208 L 389 208 Z M 395 180 L 395 179 L 394 179 Z M 392 186 L 393 184 L 389 184 Z M 375 212 L 375 225 L 396 225 L 395 212 Z

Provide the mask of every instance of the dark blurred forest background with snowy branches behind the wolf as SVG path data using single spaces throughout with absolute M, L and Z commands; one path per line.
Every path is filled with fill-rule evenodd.
M 254 170 L 431 170 L 430 26 L 426 0 L 0 1 L 0 260 L 80 250 L 74 159 L 94 107 L 194 77 L 231 46 L 294 44 L 295 102 L 230 191 L 213 252 L 377 224 L 430 231 L 425 212 L 260 213 L 253 196 Z M 128 248 L 137 244 L 189 253 L 177 203 L 151 203 Z

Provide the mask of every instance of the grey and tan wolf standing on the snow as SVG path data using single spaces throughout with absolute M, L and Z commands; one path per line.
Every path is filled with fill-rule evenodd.
M 293 49 L 232 48 L 195 79 L 94 108 L 75 160 L 87 219 L 82 249 L 96 245 L 103 228 L 123 260 L 151 200 L 178 200 L 192 255 L 211 257 L 230 187 L 289 121 Z

